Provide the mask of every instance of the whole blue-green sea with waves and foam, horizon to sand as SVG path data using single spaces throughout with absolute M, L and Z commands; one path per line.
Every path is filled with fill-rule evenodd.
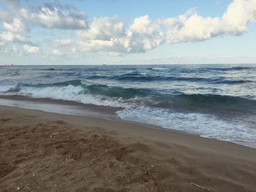
M 2 66 L 0 95 L 120 107 L 123 120 L 256 147 L 255 65 Z

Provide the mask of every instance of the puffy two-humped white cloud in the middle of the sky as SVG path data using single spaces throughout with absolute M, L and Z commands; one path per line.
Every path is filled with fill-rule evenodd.
M 95 18 L 89 30 L 78 32 L 76 50 L 109 52 L 110 55 L 146 52 L 162 42 L 159 27 L 159 23 L 152 23 L 148 15 L 135 18 L 127 30 L 117 18 Z

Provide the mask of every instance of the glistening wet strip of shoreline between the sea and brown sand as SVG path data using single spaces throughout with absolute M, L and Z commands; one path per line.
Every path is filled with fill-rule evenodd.
M 10 101 L 17 101 L 17 103 L 12 103 Z M 16 107 L 18 109 L 25 109 L 25 110 L 38 110 L 42 112 L 53 112 L 59 115 L 73 115 L 73 116 L 80 116 L 80 117 L 88 117 L 88 118 L 101 118 L 105 120 L 114 120 L 118 122 L 124 123 L 132 123 L 138 126 L 145 126 L 148 128 L 156 128 L 162 131 L 171 131 L 177 132 L 181 134 L 188 134 L 193 135 L 205 139 L 214 139 L 217 141 L 229 142 L 236 145 L 241 145 L 245 147 L 249 147 L 252 149 L 256 149 L 255 145 L 247 144 L 246 142 L 232 142 L 232 141 L 225 141 L 219 140 L 210 137 L 202 137 L 198 134 L 193 134 L 187 131 L 181 131 L 171 128 L 163 128 L 162 126 L 155 126 L 148 123 L 140 123 L 138 121 L 132 120 L 124 120 L 118 115 L 116 112 L 118 110 L 124 110 L 121 107 L 109 107 L 109 106 L 98 106 L 95 104 L 83 104 L 76 101 L 67 101 L 61 99 L 48 99 L 48 98 L 30 98 L 28 96 L 0 96 L 0 106 L 7 106 L 7 107 Z M 54 106 L 54 107 L 53 107 Z M 40 107 L 40 109 L 39 109 Z

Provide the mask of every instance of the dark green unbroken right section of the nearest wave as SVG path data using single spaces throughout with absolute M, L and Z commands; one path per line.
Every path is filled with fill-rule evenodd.
M 164 99 L 165 98 L 165 99 Z M 171 108 L 176 110 L 248 113 L 256 112 L 256 100 L 237 96 L 221 96 L 213 94 L 178 94 L 162 96 L 155 107 Z

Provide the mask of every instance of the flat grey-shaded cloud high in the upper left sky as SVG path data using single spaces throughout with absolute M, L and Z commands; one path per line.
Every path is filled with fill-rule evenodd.
M 32 13 L 30 18 L 46 28 L 82 29 L 88 26 L 83 12 L 60 11 L 55 7 L 42 7 L 38 13 Z

